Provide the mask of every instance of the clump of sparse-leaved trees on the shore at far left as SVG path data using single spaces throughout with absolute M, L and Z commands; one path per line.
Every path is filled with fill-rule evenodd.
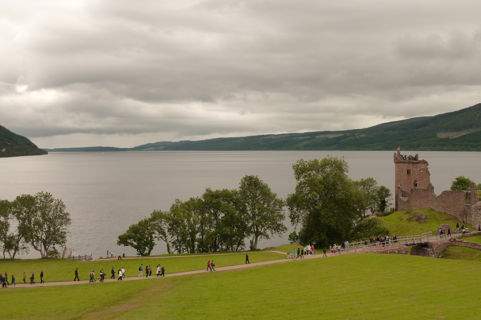
M 42 258 L 58 257 L 55 246 L 64 246 L 71 224 L 65 204 L 48 192 L 23 194 L 13 201 L 0 200 L 0 244 L 3 259 L 11 259 L 29 245 Z

